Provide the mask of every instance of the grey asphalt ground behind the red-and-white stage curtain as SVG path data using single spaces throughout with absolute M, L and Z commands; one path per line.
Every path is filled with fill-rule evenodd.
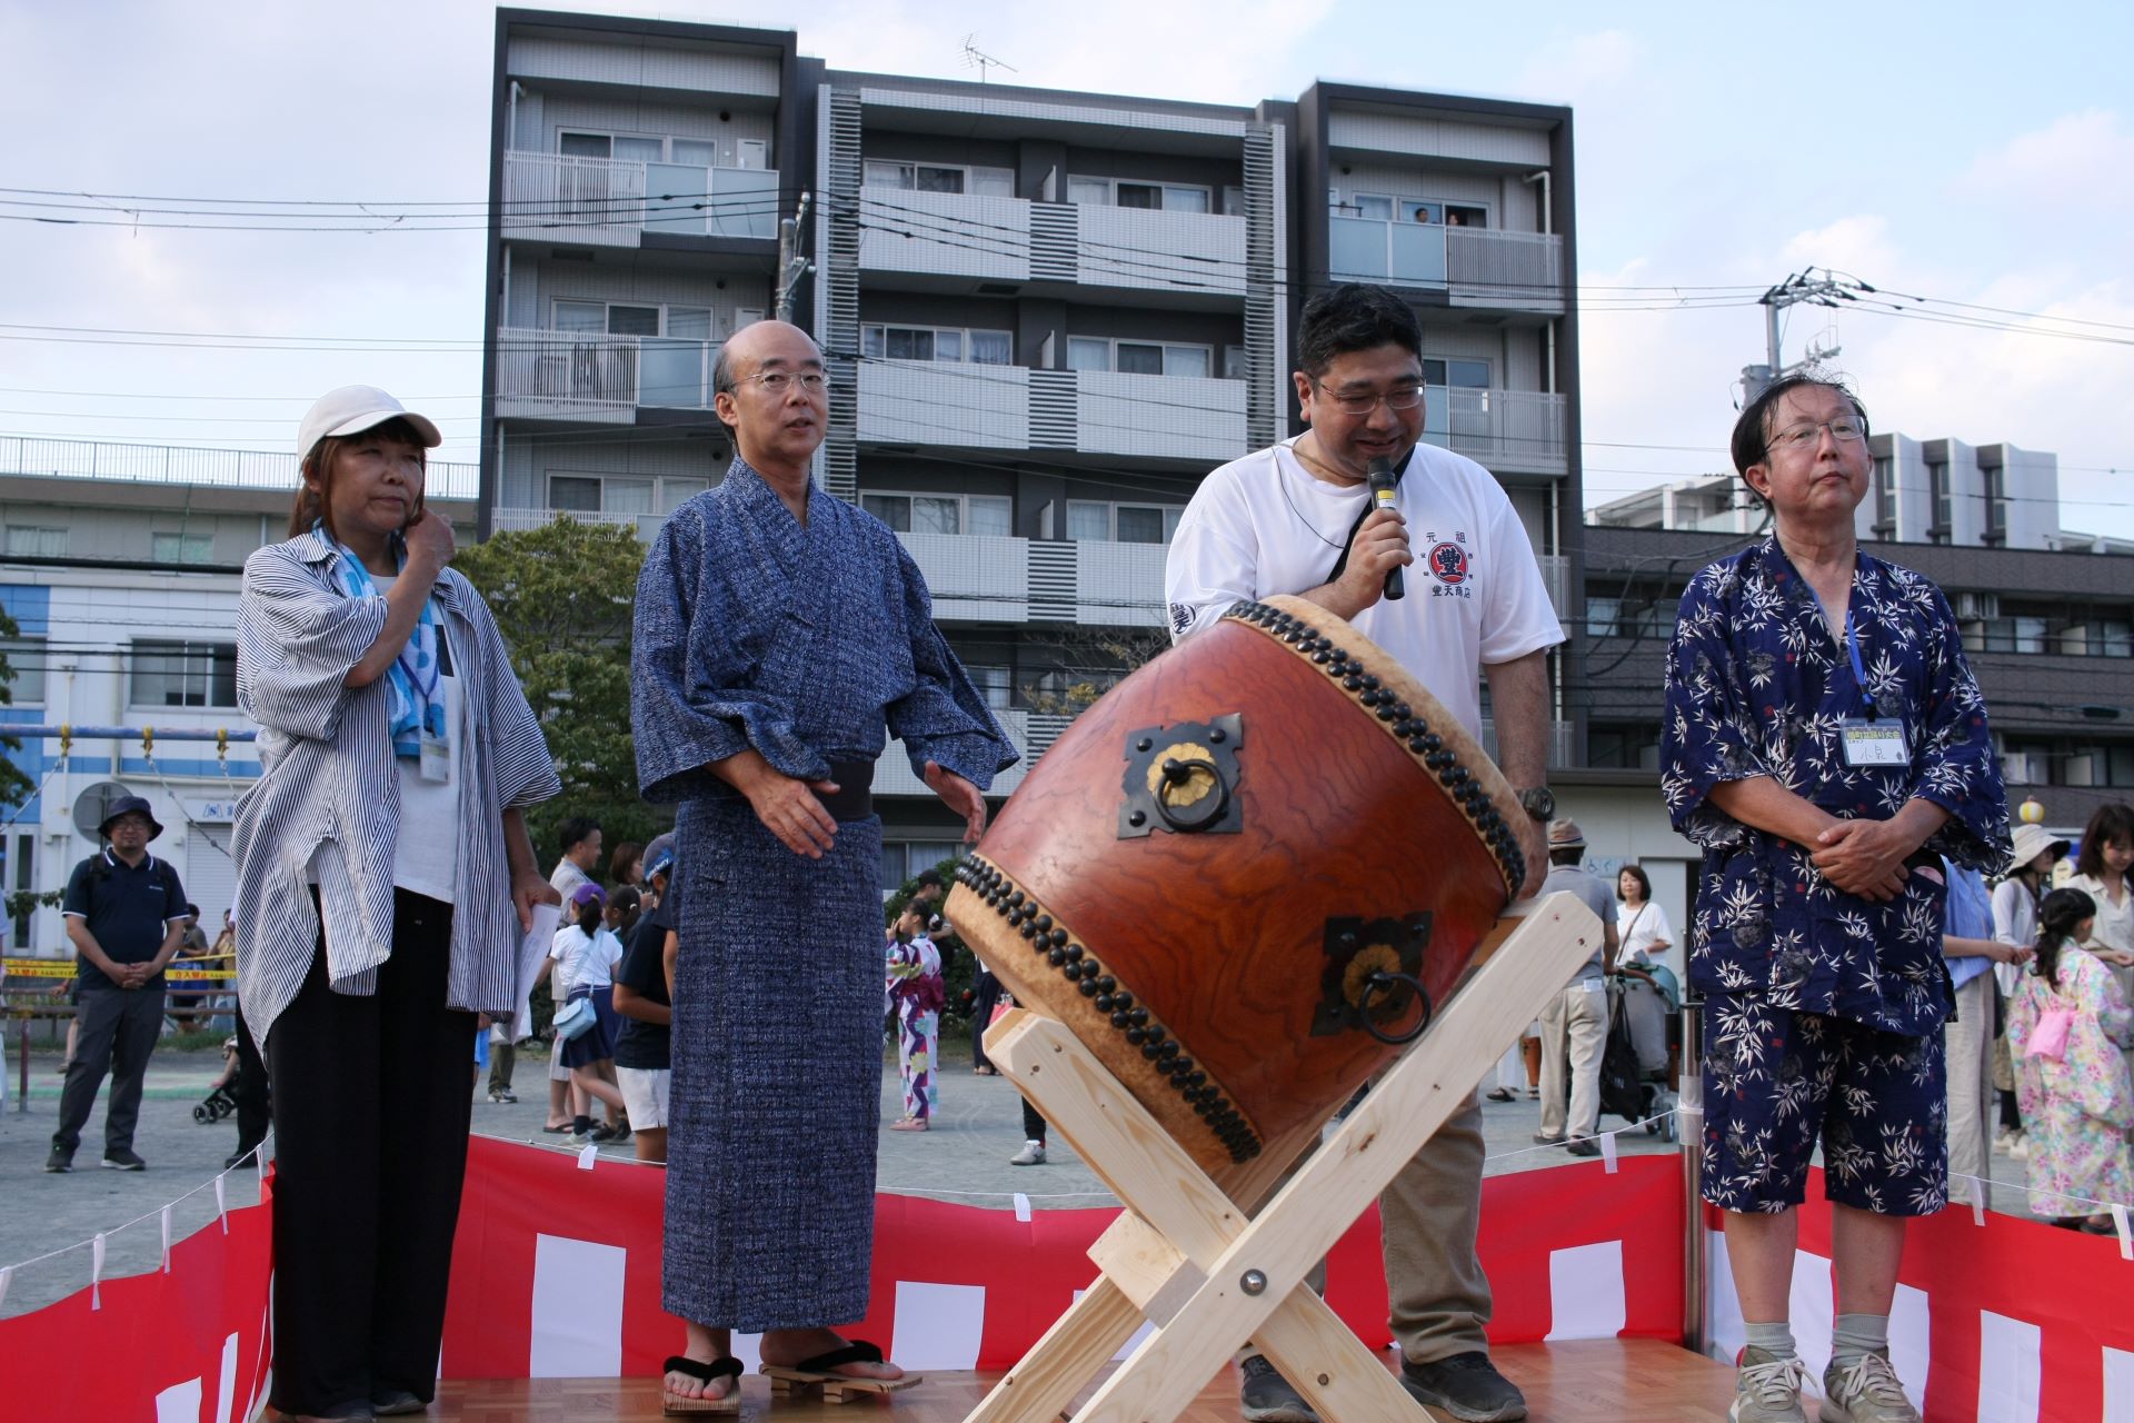
M 888 1131 L 903 1116 L 894 1058 L 881 1073 L 879 1188 L 935 1199 L 1012 1210 L 1018 1193 L 1031 1205 L 1108 1205 L 1103 1182 L 1061 1139 L 1052 1139 L 1041 1167 L 1007 1163 L 1022 1148 L 1022 1099 L 1005 1077 L 971 1073 L 969 1043 L 943 1043 L 939 1109 L 930 1131 Z M 141 1124 L 134 1150 L 147 1158 L 145 1171 L 100 1169 L 102 1101 L 90 1114 L 75 1171 L 45 1171 L 51 1131 L 60 1109 L 58 1054 L 36 1045 L 30 1058 L 28 1112 L 17 1099 L 17 1041 L 6 1043 L 6 1103 L 0 1107 L 0 1265 L 15 1265 L 0 1299 L 0 1318 L 62 1299 L 90 1282 L 87 1242 L 105 1231 L 105 1278 L 158 1267 L 162 1259 L 164 1203 L 173 1205 L 173 1240 L 213 1222 L 213 1178 L 237 1150 L 235 1120 L 194 1124 L 192 1107 L 207 1097 L 222 1071 L 220 1052 L 158 1052 L 149 1060 Z M 491 1103 L 487 1080 L 474 1099 L 474 1131 L 508 1141 L 531 1141 L 563 1150 L 559 1137 L 542 1133 L 546 1120 L 546 1052 L 521 1048 L 514 1073 L 519 1101 Z M 1620 1129 L 1620 1118 L 1603 1118 L 1603 1129 Z M 1528 1171 L 1573 1161 L 1562 1148 L 1534 1146 L 1541 1105 L 1534 1101 L 1483 1103 L 1483 1133 L 1490 1150 L 1487 1173 Z M 1673 1152 L 1662 1135 L 1639 1129 L 1618 1135 L 1622 1154 Z M 630 1156 L 632 1148 L 608 1146 L 606 1154 Z M 2023 1163 L 1993 1156 L 1995 1182 L 2023 1182 Z M 184 1199 L 179 1199 L 184 1197 Z M 230 1210 L 258 1201 L 256 1171 L 239 1169 L 224 1182 Z M 1995 1195 L 2002 1210 L 2023 1210 L 2017 1190 Z M 128 1225 L 132 1222 L 132 1225 Z M 128 1229 L 120 1229 L 128 1227 Z M 51 1259 L 34 1259 L 60 1252 Z

